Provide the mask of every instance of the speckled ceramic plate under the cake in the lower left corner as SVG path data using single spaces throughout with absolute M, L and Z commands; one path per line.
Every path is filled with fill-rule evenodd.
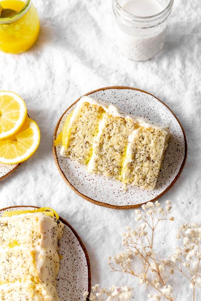
M 14 206 L 0 209 L 0 216 L 4 211 L 33 210 L 35 206 Z M 91 288 L 91 272 L 89 256 L 77 232 L 64 219 L 64 234 L 59 241 L 60 261 L 57 276 L 57 292 L 61 301 L 82 300 L 83 292 Z

